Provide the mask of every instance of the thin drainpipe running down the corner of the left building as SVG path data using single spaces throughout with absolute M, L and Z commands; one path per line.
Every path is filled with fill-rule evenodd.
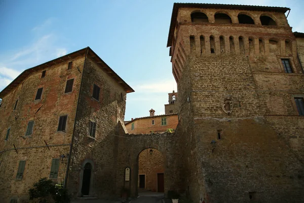
M 71 157 L 72 157 L 72 147 L 73 147 L 73 143 L 74 143 L 76 121 L 77 121 L 78 108 L 79 108 L 79 102 L 80 102 L 80 94 L 81 94 L 81 88 L 82 88 L 82 85 L 83 85 L 83 78 L 84 78 L 84 73 L 85 73 L 85 66 L 86 66 L 88 52 L 89 52 L 89 47 L 87 47 L 87 49 L 86 49 L 84 68 L 83 68 L 83 73 L 82 73 L 82 77 L 81 77 L 81 83 L 80 83 L 80 89 L 79 89 L 79 95 L 78 95 L 78 102 L 77 102 L 77 107 L 76 107 L 76 115 L 75 115 L 75 121 L 74 121 L 74 129 L 73 129 L 73 135 L 72 135 L 72 142 L 71 142 L 69 156 L 68 156 L 68 160 L 67 160 L 67 166 L 66 166 L 66 172 L 65 172 L 65 178 L 64 178 L 63 188 L 66 188 L 67 177 L 68 177 L 68 169 L 69 169 L 70 162 L 71 162 Z

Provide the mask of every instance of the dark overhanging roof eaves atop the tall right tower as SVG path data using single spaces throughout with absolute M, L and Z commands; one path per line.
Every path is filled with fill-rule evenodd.
M 265 6 L 250 6 L 250 5 L 235 5 L 235 4 L 199 4 L 199 3 L 174 3 L 172 9 L 171 23 L 169 28 L 167 47 L 171 47 L 176 18 L 179 8 L 204 8 L 204 9 L 237 9 L 247 11 L 271 11 L 283 12 L 290 10 L 286 7 L 265 7 Z

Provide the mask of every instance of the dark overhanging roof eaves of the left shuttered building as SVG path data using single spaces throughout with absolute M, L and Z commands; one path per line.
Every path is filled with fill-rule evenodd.
M 88 50 L 88 56 L 94 60 L 97 64 L 100 65 L 100 67 L 104 70 L 106 74 L 108 74 L 111 78 L 116 80 L 121 86 L 124 87 L 127 93 L 134 92 L 134 90 L 121 78 L 119 77 L 90 47 L 80 49 L 78 51 L 74 51 L 70 54 L 61 56 L 59 58 L 55 58 L 53 60 L 50 60 L 48 62 L 42 63 L 40 65 L 36 65 L 34 67 L 31 67 L 30 69 L 27 69 L 23 71 L 15 80 L 13 80 L 7 87 L 5 87 L 0 92 L 0 98 L 3 98 L 6 94 L 8 94 L 11 90 L 13 90 L 15 87 L 17 87 L 25 78 L 27 78 L 31 73 L 36 71 L 42 71 L 46 69 L 49 66 L 52 66 L 57 63 L 61 63 L 63 61 L 68 61 L 71 58 L 84 55 L 86 51 Z

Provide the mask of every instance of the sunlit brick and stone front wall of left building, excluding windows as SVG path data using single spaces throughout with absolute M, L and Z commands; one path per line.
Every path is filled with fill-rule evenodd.
M 72 58 L 71 61 L 71 70 L 67 70 L 69 61 L 63 61 L 31 73 L 3 97 L 0 107 L 0 198 L 3 202 L 10 202 L 11 198 L 20 201 L 28 199 L 28 189 L 39 179 L 49 178 L 52 159 L 69 153 L 84 55 Z M 41 78 L 44 70 L 46 76 Z M 74 78 L 72 92 L 64 94 L 66 81 L 71 78 Z M 37 89 L 41 87 L 44 88 L 42 99 L 34 100 Z M 13 110 L 17 99 L 16 110 Z M 57 132 L 61 115 L 68 115 L 66 132 Z M 25 137 L 30 120 L 34 120 L 33 133 Z M 9 127 L 9 138 L 5 141 Z M 26 161 L 25 170 L 22 180 L 16 180 L 20 160 Z M 53 181 L 63 182 L 65 172 L 66 159 L 60 162 L 58 178 Z

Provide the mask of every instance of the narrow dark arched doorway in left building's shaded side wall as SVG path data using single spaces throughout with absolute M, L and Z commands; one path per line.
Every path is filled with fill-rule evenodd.
M 93 196 L 94 162 L 86 159 L 81 166 L 78 196 Z

